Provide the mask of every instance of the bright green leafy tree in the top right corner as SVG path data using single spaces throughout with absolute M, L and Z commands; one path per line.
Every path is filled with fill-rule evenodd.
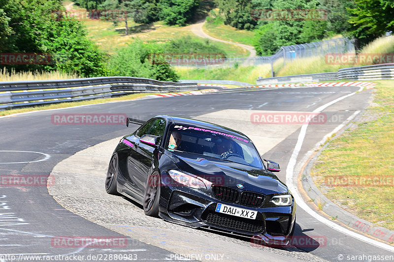
M 350 34 L 358 39 L 360 47 L 373 39 L 394 31 L 393 0 L 355 0 L 355 8 L 348 8 Z

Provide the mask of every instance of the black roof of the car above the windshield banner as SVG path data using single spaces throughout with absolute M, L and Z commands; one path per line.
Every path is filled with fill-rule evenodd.
M 239 137 L 243 137 L 243 138 L 250 140 L 245 134 L 243 134 L 239 131 L 236 131 L 234 129 L 231 129 L 231 128 L 228 128 L 228 127 L 225 127 L 222 125 L 210 123 L 210 122 L 205 122 L 205 121 L 187 118 L 187 117 L 181 117 L 181 116 L 160 115 L 160 116 L 155 116 L 155 117 L 162 117 L 162 118 L 167 119 L 169 122 L 176 123 L 176 124 L 193 125 L 193 126 L 197 126 L 199 128 L 204 128 L 204 129 L 214 129 L 215 131 L 226 132 L 231 135 L 237 135 Z

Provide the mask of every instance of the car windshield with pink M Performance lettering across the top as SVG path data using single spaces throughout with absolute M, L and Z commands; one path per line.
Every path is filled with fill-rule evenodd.
M 173 124 L 165 148 L 172 152 L 182 151 L 263 168 L 259 153 L 248 139 L 216 130 Z

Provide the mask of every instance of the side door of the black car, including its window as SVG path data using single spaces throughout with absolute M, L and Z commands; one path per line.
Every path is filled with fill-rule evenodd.
M 165 129 L 165 120 L 162 118 L 154 118 L 147 122 L 135 134 L 134 150 L 129 157 L 129 175 L 132 183 L 133 191 L 140 196 L 145 192 L 146 179 L 150 175 L 152 165 L 154 163 L 154 151 L 157 147 L 144 144 L 139 139 L 143 135 L 155 135 L 163 138 Z

